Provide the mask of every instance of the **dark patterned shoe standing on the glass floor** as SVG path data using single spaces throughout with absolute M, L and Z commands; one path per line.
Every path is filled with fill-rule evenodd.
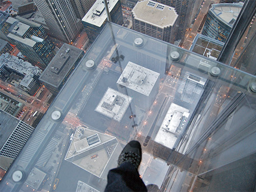
M 118 166 L 122 163 L 132 163 L 138 169 L 141 161 L 141 146 L 138 141 L 130 141 L 125 145 L 118 158 Z

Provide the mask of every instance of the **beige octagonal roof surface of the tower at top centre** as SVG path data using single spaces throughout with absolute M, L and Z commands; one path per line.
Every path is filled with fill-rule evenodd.
M 135 19 L 162 29 L 174 26 L 178 18 L 175 8 L 148 0 L 138 2 L 132 13 Z

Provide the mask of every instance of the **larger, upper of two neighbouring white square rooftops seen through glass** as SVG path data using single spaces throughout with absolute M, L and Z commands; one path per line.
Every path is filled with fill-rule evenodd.
M 159 75 L 155 71 L 129 61 L 117 83 L 145 96 L 149 96 Z

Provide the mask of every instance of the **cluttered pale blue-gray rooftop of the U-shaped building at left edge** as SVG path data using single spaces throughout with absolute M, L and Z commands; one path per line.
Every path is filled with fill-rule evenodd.
M 3 65 L 21 75 L 24 75 L 20 84 L 25 87 L 30 84 L 34 75 L 40 75 L 42 72 L 38 67 L 32 66 L 31 63 L 10 55 L 9 53 L 2 54 L 0 56 L 0 68 Z

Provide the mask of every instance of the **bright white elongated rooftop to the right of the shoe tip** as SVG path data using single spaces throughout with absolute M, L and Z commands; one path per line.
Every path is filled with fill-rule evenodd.
M 170 104 L 168 112 L 164 117 L 155 141 L 168 148 L 173 148 L 177 140 L 177 136 L 175 135 L 176 129 L 182 120 L 182 116 L 188 117 L 188 112 L 188 109 L 183 108 L 180 105 L 175 103 Z

